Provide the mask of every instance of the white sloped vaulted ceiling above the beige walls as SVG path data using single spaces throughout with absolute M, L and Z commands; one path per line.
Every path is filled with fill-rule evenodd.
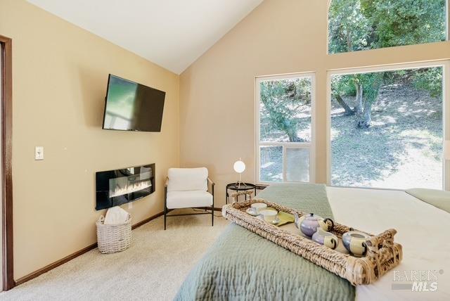
M 177 74 L 263 0 L 28 0 Z

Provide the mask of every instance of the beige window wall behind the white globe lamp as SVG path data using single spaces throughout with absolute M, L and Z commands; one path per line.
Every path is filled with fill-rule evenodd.
M 327 179 L 327 70 L 450 58 L 450 43 L 327 54 L 327 1 L 265 0 L 180 77 L 180 164 L 205 165 L 224 186 L 233 162 L 255 181 L 255 77 L 316 72 L 316 181 Z

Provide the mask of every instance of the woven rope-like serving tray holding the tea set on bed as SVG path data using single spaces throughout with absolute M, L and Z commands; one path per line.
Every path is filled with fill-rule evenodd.
M 278 226 L 268 224 L 257 217 L 252 217 L 245 212 L 252 203 L 266 203 L 267 206 L 273 207 L 278 211 L 288 212 L 290 214 L 295 212 L 299 217 L 307 214 L 283 205 L 267 202 L 266 200 L 255 199 L 225 205 L 222 208 L 222 215 L 226 219 L 257 233 L 259 236 L 347 279 L 354 286 L 373 283 L 387 271 L 396 267 L 401 261 L 403 255 L 401 245 L 394 243 L 394 235 L 397 233 L 395 229 L 386 230 L 376 236 L 367 233 L 371 238 L 366 241 L 368 247 L 366 256 L 354 257 L 327 248 L 299 234 L 285 231 Z M 342 238 L 342 234 L 351 230 L 355 229 L 335 223 L 333 230 L 330 232 L 338 236 L 338 238 Z

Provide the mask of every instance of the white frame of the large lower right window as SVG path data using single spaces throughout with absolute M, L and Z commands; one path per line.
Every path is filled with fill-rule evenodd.
M 380 65 L 368 68 L 347 68 L 340 70 L 329 70 L 327 72 L 326 87 L 326 176 L 327 186 L 341 188 L 366 188 L 403 191 L 401 188 L 380 188 L 380 187 L 356 187 L 356 186 L 336 186 L 332 185 L 331 172 L 331 77 L 333 75 L 352 75 L 370 72 L 384 72 L 397 70 L 411 70 L 417 68 L 442 68 L 442 189 L 450 191 L 450 160 L 445 159 L 446 141 L 450 141 L 450 60 L 435 60 L 421 63 L 401 63 L 393 65 Z

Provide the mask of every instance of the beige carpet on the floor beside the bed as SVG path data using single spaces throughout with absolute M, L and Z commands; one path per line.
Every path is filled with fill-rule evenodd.
M 219 212 L 216 212 L 216 215 Z M 131 247 L 97 249 L 8 292 L 0 300 L 172 300 L 188 272 L 229 223 L 210 215 L 159 217 L 133 231 Z

